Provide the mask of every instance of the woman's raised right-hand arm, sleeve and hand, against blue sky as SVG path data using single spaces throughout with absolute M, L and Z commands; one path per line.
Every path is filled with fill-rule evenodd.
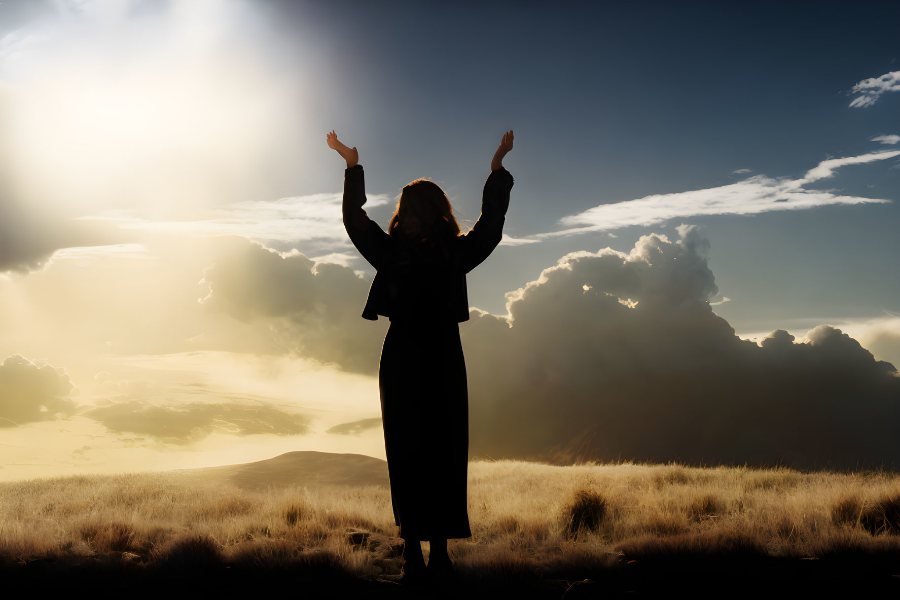
M 503 168 L 503 157 L 512 150 L 512 141 L 511 131 L 503 134 L 500 147 L 491 160 L 491 175 L 484 182 L 482 214 L 472 231 L 461 236 L 460 246 L 466 273 L 482 264 L 503 238 L 503 224 L 506 223 L 506 212 L 509 209 L 509 190 L 515 181 L 512 174 Z

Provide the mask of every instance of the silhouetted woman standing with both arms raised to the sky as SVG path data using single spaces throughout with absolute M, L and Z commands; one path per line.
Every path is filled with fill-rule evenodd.
M 463 234 L 450 200 L 432 181 L 404 186 L 388 232 L 365 214 L 363 166 L 335 132 L 329 147 L 347 160 L 344 226 L 377 271 L 363 318 L 391 324 L 378 370 L 394 523 L 406 541 L 405 571 L 425 575 L 419 541 L 429 541 L 428 571 L 453 576 L 448 538 L 468 538 L 469 401 L 459 324 L 469 319 L 465 274 L 497 247 L 513 177 L 502 166 L 506 132 L 484 184 L 482 214 Z

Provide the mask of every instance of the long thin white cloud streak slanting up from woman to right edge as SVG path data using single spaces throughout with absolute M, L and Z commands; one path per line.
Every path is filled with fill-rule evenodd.
M 633 225 L 650 226 L 669 219 L 711 214 L 759 214 L 770 211 L 803 210 L 824 205 L 884 204 L 890 200 L 836 195 L 831 191 L 803 186 L 834 176 L 836 168 L 900 156 L 900 150 L 872 152 L 860 156 L 827 159 L 806 172 L 804 177 L 773 179 L 765 175 L 748 177 L 727 186 L 647 195 L 637 200 L 599 205 L 560 219 L 570 228 L 538 233 L 536 239 L 584 232 L 619 229 Z

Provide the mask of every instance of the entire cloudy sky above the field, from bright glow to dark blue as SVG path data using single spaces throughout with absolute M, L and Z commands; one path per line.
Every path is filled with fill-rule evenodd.
M 0 479 L 384 457 L 331 130 L 375 221 L 431 177 L 464 230 L 516 133 L 473 454 L 900 460 L 851 416 L 900 401 L 898 16 L 4 0 Z

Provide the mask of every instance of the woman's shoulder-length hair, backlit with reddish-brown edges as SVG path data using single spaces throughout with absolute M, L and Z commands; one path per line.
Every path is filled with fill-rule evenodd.
M 392 238 L 431 243 L 460 234 L 450 199 L 434 181 L 420 177 L 403 186 L 388 223 Z

